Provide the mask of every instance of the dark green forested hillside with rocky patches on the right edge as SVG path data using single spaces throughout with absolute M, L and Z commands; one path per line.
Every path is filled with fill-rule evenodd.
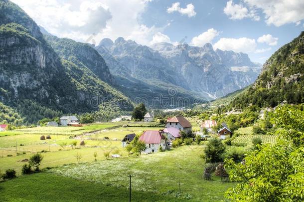
M 226 109 L 249 105 L 275 107 L 283 101 L 304 102 L 304 32 L 276 51 L 264 64 L 256 82 Z

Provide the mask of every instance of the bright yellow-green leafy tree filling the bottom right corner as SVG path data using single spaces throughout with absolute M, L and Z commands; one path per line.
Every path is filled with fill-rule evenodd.
M 230 180 L 239 184 L 226 192 L 231 201 L 304 201 L 304 112 L 278 106 L 272 115 L 276 144 L 262 145 L 244 163 L 226 160 Z

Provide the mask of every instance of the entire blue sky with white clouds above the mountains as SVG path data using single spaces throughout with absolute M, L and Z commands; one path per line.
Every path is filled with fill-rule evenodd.
M 59 37 L 212 43 L 265 62 L 304 30 L 304 0 L 12 0 Z

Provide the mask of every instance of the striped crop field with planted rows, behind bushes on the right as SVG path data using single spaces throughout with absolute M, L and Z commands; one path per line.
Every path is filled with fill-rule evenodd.
M 232 141 L 232 145 L 249 145 L 252 144 L 253 138 L 261 138 L 262 143 L 276 143 L 276 135 L 240 135 Z

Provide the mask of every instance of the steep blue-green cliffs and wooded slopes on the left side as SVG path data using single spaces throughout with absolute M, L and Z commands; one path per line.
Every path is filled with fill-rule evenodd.
M 56 110 L 49 116 L 91 112 L 99 110 L 99 104 L 132 108 L 121 104 L 130 100 L 111 86 L 115 80 L 94 48 L 56 37 L 49 42 L 52 46 L 22 9 L 0 1 L 0 101 L 13 107 L 26 101 L 41 111 Z

